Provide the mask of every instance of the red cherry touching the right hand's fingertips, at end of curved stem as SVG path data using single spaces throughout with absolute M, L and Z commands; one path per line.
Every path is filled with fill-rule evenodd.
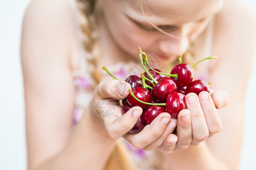
M 166 97 L 166 112 L 170 113 L 172 118 L 177 118 L 179 112 L 186 108 L 185 96 L 181 92 L 171 92 Z

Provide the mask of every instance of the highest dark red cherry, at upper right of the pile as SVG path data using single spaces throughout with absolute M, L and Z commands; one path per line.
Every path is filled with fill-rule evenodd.
M 174 66 L 170 74 L 177 74 L 177 78 L 172 77 L 172 79 L 175 80 L 177 87 L 188 86 L 194 77 L 193 69 L 187 63 L 180 63 Z

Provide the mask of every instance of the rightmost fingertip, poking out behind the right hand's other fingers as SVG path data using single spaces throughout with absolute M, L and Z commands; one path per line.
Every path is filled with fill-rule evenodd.
M 223 108 L 229 103 L 229 94 L 225 91 L 213 92 L 211 96 L 217 109 Z

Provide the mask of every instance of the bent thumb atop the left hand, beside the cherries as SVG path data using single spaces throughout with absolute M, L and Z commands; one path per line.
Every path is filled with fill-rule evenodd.
M 98 84 L 94 91 L 94 99 L 125 99 L 125 97 L 129 95 L 129 89 L 131 89 L 131 85 L 125 81 L 109 79 L 103 80 L 100 84 Z

